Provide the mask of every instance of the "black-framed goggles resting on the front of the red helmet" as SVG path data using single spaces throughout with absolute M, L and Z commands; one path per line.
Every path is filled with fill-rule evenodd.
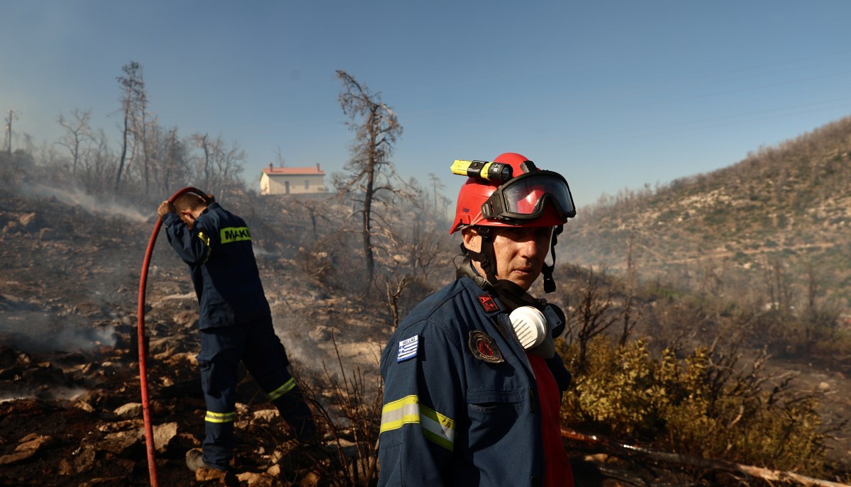
M 563 175 L 536 170 L 498 187 L 483 203 L 482 216 L 520 225 L 544 215 L 547 203 L 564 221 L 576 215 L 574 198 Z

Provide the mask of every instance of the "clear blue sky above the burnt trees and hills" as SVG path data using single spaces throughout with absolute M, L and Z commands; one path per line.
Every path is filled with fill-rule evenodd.
M 846 0 L 8 0 L 0 13 L 0 110 L 16 133 L 49 143 L 60 113 L 91 109 L 117 147 L 116 77 L 135 60 L 159 123 L 237 141 L 250 180 L 278 148 L 288 166 L 343 168 L 338 69 L 397 112 L 399 173 L 436 174 L 450 198 L 456 158 L 521 152 L 582 206 L 851 113 Z

